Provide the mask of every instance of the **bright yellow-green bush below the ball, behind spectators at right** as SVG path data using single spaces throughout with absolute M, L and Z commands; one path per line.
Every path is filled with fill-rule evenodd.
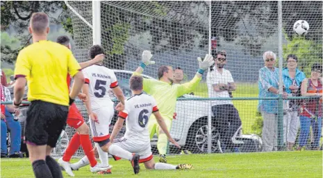
M 309 76 L 312 64 L 322 63 L 322 42 L 318 43 L 302 36 L 295 36 L 290 40 L 285 35 L 285 38 L 288 39 L 288 43 L 283 45 L 284 62 L 289 54 L 297 55 L 299 69 Z

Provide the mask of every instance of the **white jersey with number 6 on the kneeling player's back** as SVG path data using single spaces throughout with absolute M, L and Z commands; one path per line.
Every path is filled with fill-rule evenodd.
M 158 112 L 158 108 L 152 96 L 142 93 L 126 100 L 124 111 L 119 112 L 119 117 L 126 119 L 124 138 L 150 144 L 148 119 L 153 112 Z

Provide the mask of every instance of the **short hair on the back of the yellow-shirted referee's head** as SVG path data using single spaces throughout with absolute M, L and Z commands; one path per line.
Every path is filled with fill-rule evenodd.
M 44 12 L 34 12 L 31 15 L 31 29 L 33 33 L 42 34 L 49 27 L 49 19 Z

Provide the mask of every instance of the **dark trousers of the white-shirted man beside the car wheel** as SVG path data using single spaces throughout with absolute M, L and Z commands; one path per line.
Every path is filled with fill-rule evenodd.
M 221 144 L 225 149 L 233 148 L 232 137 L 242 125 L 239 112 L 233 105 L 215 105 L 212 107 L 215 125 L 220 132 Z

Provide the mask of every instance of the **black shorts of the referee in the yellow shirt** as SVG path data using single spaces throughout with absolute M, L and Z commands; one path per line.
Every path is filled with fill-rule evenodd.
M 66 126 L 68 107 L 34 100 L 28 108 L 25 141 L 30 145 L 56 146 Z

